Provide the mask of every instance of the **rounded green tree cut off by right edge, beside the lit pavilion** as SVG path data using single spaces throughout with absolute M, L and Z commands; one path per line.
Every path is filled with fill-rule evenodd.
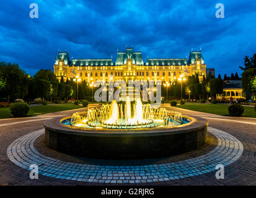
M 242 88 L 252 93 L 253 100 L 255 96 L 255 87 L 254 87 L 254 79 L 256 77 L 256 68 L 254 69 L 247 69 L 244 72 L 242 72 Z

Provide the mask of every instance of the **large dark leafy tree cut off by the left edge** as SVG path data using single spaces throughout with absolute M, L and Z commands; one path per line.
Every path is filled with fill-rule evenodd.
M 6 97 L 7 102 L 14 101 L 28 94 L 28 75 L 19 68 L 18 64 L 0 62 L 0 95 Z M 22 84 L 22 82 L 26 82 Z M 23 86 L 23 87 L 22 87 Z

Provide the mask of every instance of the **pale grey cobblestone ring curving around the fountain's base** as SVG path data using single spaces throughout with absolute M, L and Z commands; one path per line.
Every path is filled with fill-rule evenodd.
M 12 142 L 7 148 L 7 156 L 20 168 L 30 170 L 30 165 L 38 165 L 38 173 L 53 178 L 94 183 L 151 183 L 169 181 L 209 173 L 215 166 L 230 165 L 241 157 L 244 147 L 236 137 L 224 131 L 208 127 L 208 131 L 218 138 L 218 145 L 200 157 L 173 163 L 141 166 L 85 165 L 61 161 L 39 153 L 33 143 L 45 131 L 31 132 Z

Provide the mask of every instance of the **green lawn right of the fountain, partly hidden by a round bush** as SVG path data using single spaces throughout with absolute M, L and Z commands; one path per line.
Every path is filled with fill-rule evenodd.
M 213 113 L 219 114 L 223 116 L 229 116 L 229 105 L 214 105 L 214 104 L 184 104 L 178 105 L 177 107 L 183 108 L 186 110 L 193 110 L 193 111 L 201 111 L 205 113 Z M 254 107 L 244 106 L 244 113 L 242 114 L 243 117 L 250 117 L 256 118 L 256 111 L 254 111 Z

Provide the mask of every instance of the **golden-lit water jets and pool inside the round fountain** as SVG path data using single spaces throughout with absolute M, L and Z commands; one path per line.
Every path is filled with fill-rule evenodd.
M 141 129 L 172 127 L 188 123 L 189 120 L 177 112 L 167 113 L 165 108 L 153 108 L 143 105 L 137 99 L 132 105 L 129 97 L 125 104 L 113 100 L 111 104 L 100 108 L 90 108 L 73 114 L 71 119 L 63 120 L 63 124 L 85 129 Z

